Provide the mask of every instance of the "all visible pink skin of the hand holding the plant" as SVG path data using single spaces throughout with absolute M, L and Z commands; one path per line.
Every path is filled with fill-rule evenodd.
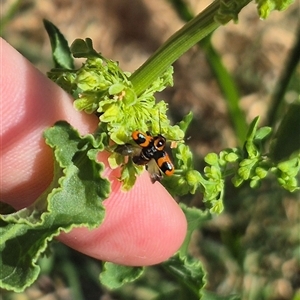
M 52 179 L 52 150 L 43 131 L 66 120 L 86 134 L 95 130 L 98 120 L 75 111 L 68 94 L 2 39 L 0 59 L 1 201 L 21 209 Z M 107 165 L 107 154 L 98 158 Z M 112 193 L 104 201 L 104 222 L 92 231 L 78 228 L 58 239 L 89 256 L 124 265 L 152 265 L 172 256 L 185 238 L 187 223 L 164 187 L 152 184 L 144 172 L 125 193 L 118 171 L 107 167 L 105 176 L 112 182 Z

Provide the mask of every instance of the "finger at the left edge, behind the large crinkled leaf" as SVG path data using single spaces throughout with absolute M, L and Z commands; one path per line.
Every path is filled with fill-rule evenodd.
M 95 130 L 98 120 L 75 111 L 70 95 L 3 39 L 0 50 L 0 193 L 3 202 L 21 209 L 52 181 L 53 151 L 44 130 L 66 120 L 85 134 Z

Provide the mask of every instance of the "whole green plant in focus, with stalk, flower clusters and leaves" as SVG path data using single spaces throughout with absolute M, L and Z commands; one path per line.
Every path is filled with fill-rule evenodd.
M 235 10 L 233 6 L 225 5 L 227 2 L 233 6 L 237 3 L 214 2 L 175 34 L 132 75 L 123 72 L 117 63 L 97 53 L 90 39 L 76 40 L 69 49 L 59 31 L 51 23 L 45 22 L 52 42 L 56 67 L 49 73 L 49 77 L 73 95 L 77 109 L 99 114 L 101 123 L 95 134 L 85 137 L 81 137 L 65 122 L 59 122 L 45 131 L 46 142 L 55 153 L 56 176 L 47 193 L 43 194 L 32 207 L 1 216 L 1 236 L 5 237 L 1 240 L 3 278 L 13 274 L 15 258 L 22 258 L 18 262 L 18 272 L 15 276 L 8 276 L 9 280 L 1 281 L 3 288 L 20 291 L 36 279 L 39 268 L 35 262 L 45 251 L 48 241 L 58 235 L 61 228 L 69 231 L 78 225 L 86 225 L 89 228 L 100 225 L 104 211 L 99 203 L 109 195 L 109 182 L 98 175 L 103 170 L 102 164 L 96 161 L 98 151 L 109 150 L 111 166 L 122 168 L 123 189 L 128 190 L 134 185 L 136 176 L 143 168 L 136 166 L 131 160 L 125 163 L 124 157 L 114 150 L 117 145 L 130 143 L 131 133 L 136 128 L 149 130 L 154 134 L 161 133 L 168 140 L 178 142 L 177 147 L 173 149 L 175 175 L 165 177 L 162 181 L 174 196 L 196 192 L 204 195 L 207 205 L 205 212 L 182 205 L 189 221 L 187 238 L 178 254 L 163 264 L 165 270 L 177 277 L 179 282 L 186 284 L 186 289 L 195 299 L 206 293 L 203 289 L 205 272 L 198 260 L 188 256 L 187 247 L 193 230 L 201 226 L 211 213 L 222 212 L 225 178 L 232 176 L 235 186 L 248 181 L 251 187 L 255 187 L 269 173 L 273 173 L 285 189 L 289 191 L 299 189 L 296 181 L 299 173 L 299 145 L 292 143 L 287 153 L 278 154 L 280 152 L 278 148 L 289 130 L 291 120 L 295 122 L 293 128 L 300 128 L 297 119 L 299 103 L 293 104 L 291 113 L 294 113 L 295 117 L 286 115 L 277 132 L 276 140 L 272 141 L 270 151 L 266 150 L 264 143 L 270 136 L 271 128 L 258 129 L 259 118 L 256 118 L 249 126 L 243 148 L 225 149 L 220 154 L 209 153 L 205 157 L 208 166 L 201 174 L 194 169 L 192 153 L 183 142 L 192 115 L 187 115 L 182 122 L 171 126 L 166 115 L 166 104 L 156 103 L 153 96 L 155 92 L 162 91 L 167 85 L 172 84 L 170 65 L 219 26 L 215 19 L 224 23 L 231 18 L 237 19 L 240 9 L 250 1 L 245 3 L 239 1 L 239 5 L 234 7 Z M 261 17 L 266 17 L 269 10 L 265 5 L 266 3 L 260 2 Z M 279 8 L 282 9 L 288 3 L 281 5 Z M 191 38 L 187 38 L 188 34 Z M 72 55 L 75 58 L 86 58 L 86 63 L 75 70 Z M 295 136 L 297 133 L 299 134 L 299 131 Z M 111 146 L 111 141 L 116 146 Z M 79 191 L 83 194 L 89 191 L 89 197 L 75 197 L 74 191 L 78 191 L 78 186 L 82 188 Z M 78 202 L 76 199 L 86 201 Z M 87 201 L 88 199 L 92 200 Z M 68 200 L 72 201 L 72 210 Z M 58 203 L 59 207 L 56 206 Z M 61 203 L 65 203 L 65 206 Z M 80 217 L 78 212 L 81 212 Z M 72 217 L 75 214 L 77 223 L 74 223 Z M 32 233 L 36 234 L 35 239 L 31 238 Z M 21 248 L 14 247 L 20 243 Z M 15 249 L 14 252 L 11 251 L 12 248 Z M 30 249 L 28 255 L 24 256 L 28 249 Z M 10 260 L 4 260 L 4 255 L 5 259 L 10 257 Z M 27 271 L 22 272 L 24 269 Z M 102 283 L 110 288 L 116 288 L 139 277 L 142 271 L 142 268 L 105 263 L 105 270 L 100 278 Z M 116 273 L 120 278 L 115 276 Z

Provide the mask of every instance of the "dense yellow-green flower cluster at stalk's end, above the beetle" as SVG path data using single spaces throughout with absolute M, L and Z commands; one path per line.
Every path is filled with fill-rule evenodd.
M 99 131 L 104 131 L 115 146 L 106 140 L 106 148 L 112 152 L 109 162 L 115 168 L 122 165 L 120 180 L 123 190 L 129 190 L 135 183 L 142 168 L 130 160 L 123 164 L 121 155 L 113 152 L 117 145 L 132 142 L 135 130 L 162 134 L 168 140 L 182 140 L 184 132 L 178 125 L 171 126 L 166 115 L 168 107 L 164 101 L 156 103 L 154 94 L 173 84 L 173 68 L 157 78 L 140 95 L 130 82 L 130 74 L 123 72 L 118 64 L 102 57 L 93 49 L 90 39 L 76 40 L 71 51 L 75 57 L 84 57 L 86 62 L 78 70 L 58 70 L 49 72 L 49 77 L 75 98 L 77 110 L 98 113 Z

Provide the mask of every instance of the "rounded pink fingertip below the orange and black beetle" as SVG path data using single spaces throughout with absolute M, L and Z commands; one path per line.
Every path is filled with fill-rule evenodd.
M 74 229 L 59 239 L 89 256 L 123 265 L 147 266 L 167 260 L 179 249 L 187 230 L 178 204 L 159 183 L 151 183 L 147 172 L 129 192 L 116 188 L 115 182 L 104 201 L 106 216 L 99 228 Z

